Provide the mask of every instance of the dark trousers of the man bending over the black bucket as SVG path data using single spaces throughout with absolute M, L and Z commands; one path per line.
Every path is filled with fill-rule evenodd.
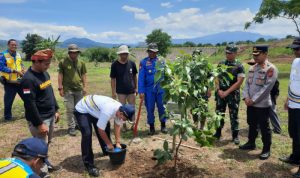
M 78 126 L 81 131 L 81 154 L 82 160 L 86 167 L 94 166 L 94 153 L 92 149 L 92 125 L 95 129 L 98 141 L 102 148 L 103 154 L 106 154 L 106 144 L 100 136 L 98 131 L 97 122 L 98 119 L 91 116 L 90 114 L 81 114 L 77 111 L 74 112 L 75 118 L 77 120 Z M 107 123 L 105 132 L 110 139 L 110 123 Z

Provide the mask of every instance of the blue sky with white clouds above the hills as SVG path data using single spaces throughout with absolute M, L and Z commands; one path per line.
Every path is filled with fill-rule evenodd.
M 161 28 L 174 39 L 243 31 L 262 0 L 0 0 L 0 39 L 61 35 L 104 43 L 144 41 Z M 248 32 L 296 34 L 286 19 L 254 24 Z

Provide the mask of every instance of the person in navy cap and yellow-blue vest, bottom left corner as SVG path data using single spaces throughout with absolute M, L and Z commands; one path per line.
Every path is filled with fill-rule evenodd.
M 27 138 L 15 146 L 12 156 L 0 160 L 0 178 L 39 178 L 48 146 L 41 139 Z

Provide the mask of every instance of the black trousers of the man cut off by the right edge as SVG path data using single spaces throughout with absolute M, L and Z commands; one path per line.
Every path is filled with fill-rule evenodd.
M 291 158 L 300 160 L 300 109 L 289 108 L 289 135 L 293 140 Z

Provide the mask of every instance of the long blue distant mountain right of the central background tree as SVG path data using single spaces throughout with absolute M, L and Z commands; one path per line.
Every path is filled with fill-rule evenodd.
M 183 44 L 187 41 L 199 44 L 211 43 L 217 44 L 222 42 L 237 42 L 237 41 L 256 41 L 259 38 L 264 39 L 272 39 L 274 37 L 261 35 L 259 33 L 251 33 L 251 32 L 243 32 L 243 31 L 235 31 L 235 32 L 221 32 L 212 35 L 207 35 L 199 38 L 191 38 L 191 39 L 174 39 L 172 41 L 173 44 Z

